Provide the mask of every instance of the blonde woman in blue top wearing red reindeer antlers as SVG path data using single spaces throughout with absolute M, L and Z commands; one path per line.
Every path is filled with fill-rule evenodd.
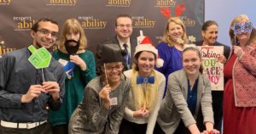
M 182 40 L 183 42 L 179 42 Z M 168 81 L 168 75 L 183 68 L 183 44 L 188 42 L 183 21 L 177 17 L 170 18 L 166 23 L 162 41 L 163 42 L 160 42 L 156 48 L 158 49 L 160 59 L 164 60 L 164 65 L 160 68 L 156 68 L 156 70 L 164 74 L 166 81 Z

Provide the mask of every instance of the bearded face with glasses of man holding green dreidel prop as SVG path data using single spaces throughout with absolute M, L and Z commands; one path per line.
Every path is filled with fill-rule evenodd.
M 31 31 L 33 45 L 36 48 L 45 47 L 49 49 L 53 46 L 58 37 L 59 27 L 49 21 L 40 21 L 38 30 Z

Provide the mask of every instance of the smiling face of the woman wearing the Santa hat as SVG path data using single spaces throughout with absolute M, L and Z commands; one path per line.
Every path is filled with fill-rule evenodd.
M 148 77 L 152 70 L 154 70 L 155 55 L 154 53 L 143 51 L 138 53 L 139 56 L 136 59 L 138 67 L 138 74 L 144 77 Z

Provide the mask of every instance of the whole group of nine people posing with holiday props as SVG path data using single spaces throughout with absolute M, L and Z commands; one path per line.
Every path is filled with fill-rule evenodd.
M 28 61 L 27 47 L 0 59 L 0 133 L 218 134 L 222 124 L 224 134 L 256 133 L 256 30 L 246 15 L 231 22 L 231 50 L 217 42 L 213 20 L 188 44 L 183 21 L 172 17 L 154 47 L 148 36 L 137 44 L 131 16 L 119 14 L 96 59 L 78 20 L 61 31 L 47 68 Z M 32 45 L 49 49 L 58 33 L 54 20 L 38 20 Z M 196 46 L 205 45 L 224 46 L 224 92 L 212 91 L 204 75 Z

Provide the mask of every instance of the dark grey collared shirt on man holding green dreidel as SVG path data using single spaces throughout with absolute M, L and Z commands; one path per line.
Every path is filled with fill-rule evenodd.
M 28 61 L 31 53 L 27 48 L 6 53 L 0 61 L 0 120 L 9 122 L 37 122 L 48 119 L 49 109 L 60 109 L 64 98 L 65 73 L 55 59 L 49 67 L 36 69 Z M 30 103 L 21 103 L 21 96 L 26 94 L 32 85 L 44 81 L 57 81 L 60 86 L 60 101 L 55 102 L 47 93 L 41 93 Z

